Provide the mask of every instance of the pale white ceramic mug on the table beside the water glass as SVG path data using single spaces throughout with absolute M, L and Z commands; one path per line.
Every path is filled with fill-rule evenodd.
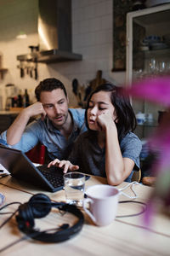
M 111 185 L 99 184 L 89 187 L 87 198 L 83 201 L 83 209 L 95 224 L 105 226 L 116 218 L 119 189 Z M 89 203 L 89 210 L 86 207 Z

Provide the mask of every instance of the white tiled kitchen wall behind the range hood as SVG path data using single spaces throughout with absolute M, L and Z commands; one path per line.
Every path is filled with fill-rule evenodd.
M 38 79 L 28 75 L 20 78 L 20 62 L 17 55 L 30 52 L 29 45 L 38 44 L 37 36 L 37 0 L 0 0 L 0 55 L 3 55 L 3 67 L 8 68 L 4 79 L 0 79 L 0 93 L 5 104 L 5 84 L 15 84 L 28 89 L 31 97 L 42 79 L 55 77 L 60 79 L 68 91 L 71 106 L 77 106 L 72 93 L 72 79 L 87 84 L 95 78 L 97 70 L 103 71 L 103 78 L 124 83 L 124 73 L 112 73 L 113 0 L 72 0 L 72 51 L 82 54 L 82 61 L 62 63 L 38 63 Z M 26 32 L 26 39 L 17 39 L 20 31 Z

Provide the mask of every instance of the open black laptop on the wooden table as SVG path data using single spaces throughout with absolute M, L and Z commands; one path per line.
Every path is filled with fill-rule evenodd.
M 26 154 L 14 148 L 0 145 L 0 163 L 12 177 L 31 183 L 40 189 L 55 192 L 63 189 L 63 170 L 48 165 L 34 166 Z M 90 176 L 86 175 L 86 180 Z

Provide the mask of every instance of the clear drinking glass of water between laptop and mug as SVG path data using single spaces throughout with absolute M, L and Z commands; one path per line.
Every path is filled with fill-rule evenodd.
M 64 175 L 65 198 L 68 204 L 82 207 L 85 188 L 85 175 L 81 172 L 69 172 Z

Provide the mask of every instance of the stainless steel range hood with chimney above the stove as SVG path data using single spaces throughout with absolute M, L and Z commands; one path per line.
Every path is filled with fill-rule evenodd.
M 72 53 L 71 0 L 39 0 L 37 23 L 39 49 L 18 55 L 17 60 L 44 63 L 82 60 L 82 55 Z

